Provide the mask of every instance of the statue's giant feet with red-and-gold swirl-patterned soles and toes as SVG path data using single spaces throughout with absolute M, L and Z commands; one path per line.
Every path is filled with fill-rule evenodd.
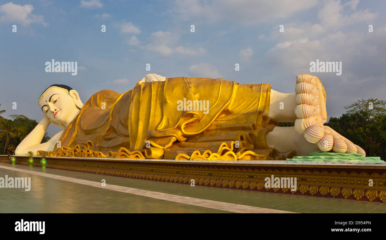
M 350 140 L 338 134 L 335 130 L 323 124 L 327 121 L 326 91 L 319 78 L 301 74 L 296 77 L 295 130 L 304 134 L 305 139 L 323 152 L 333 150 L 342 153 L 366 152 Z

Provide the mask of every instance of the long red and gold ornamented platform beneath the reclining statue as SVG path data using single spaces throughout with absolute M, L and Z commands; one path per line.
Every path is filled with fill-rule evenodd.
M 29 157 L 17 155 L 16 164 Z M 40 167 L 41 157 L 34 157 Z M 386 203 L 385 162 L 182 161 L 46 157 L 47 168 L 218 188 L 301 194 Z M 301 159 L 298 159 L 301 160 Z M 0 155 L 0 162 L 10 162 Z M 265 178 L 296 177 L 297 188 L 266 188 Z M 372 182 L 372 186 L 369 183 Z

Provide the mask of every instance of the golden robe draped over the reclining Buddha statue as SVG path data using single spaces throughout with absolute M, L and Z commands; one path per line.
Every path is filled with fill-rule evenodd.
M 293 157 L 294 151 L 279 153 L 266 144 L 266 133 L 278 124 L 267 117 L 270 93 L 269 84 L 184 77 L 145 82 L 123 94 L 102 90 L 64 130 L 61 148 L 48 155 L 176 160 Z M 207 112 L 197 109 L 200 100 L 208 103 Z

